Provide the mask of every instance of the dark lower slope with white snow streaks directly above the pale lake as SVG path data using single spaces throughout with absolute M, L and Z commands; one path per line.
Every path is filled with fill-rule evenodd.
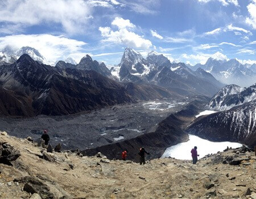
M 256 145 L 256 101 L 230 110 L 199 117 L 187 132 L 215 142 L 240 142 Z

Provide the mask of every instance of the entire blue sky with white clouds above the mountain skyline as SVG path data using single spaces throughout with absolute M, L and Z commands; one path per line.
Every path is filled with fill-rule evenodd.
M 31 46 L 56 61 L 86 53 L 118 64 L 125 47 L 171 61 L 256 63 L 256 0 L 8 0 L 0 49 Z

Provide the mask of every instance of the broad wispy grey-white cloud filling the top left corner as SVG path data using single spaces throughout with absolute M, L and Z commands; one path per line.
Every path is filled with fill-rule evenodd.
M 0 22 L 20 24 L 23 27 L 41 23 L 58 23 L 69 33 L 84 30 L 92 9 L 82 0 L 9 0 L 0 3 Z

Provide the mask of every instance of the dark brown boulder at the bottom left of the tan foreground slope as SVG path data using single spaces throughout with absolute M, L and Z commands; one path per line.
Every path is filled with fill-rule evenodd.
M 25 176 L 20 179 L 15 179 L 14 181 L 24 183 L 24 191 L 31 194 L 38 193 L 42 199 L 55 198 L 50 192 L 49 186 L 42 183 L 42 181 L 36 179 L 35 177 Z

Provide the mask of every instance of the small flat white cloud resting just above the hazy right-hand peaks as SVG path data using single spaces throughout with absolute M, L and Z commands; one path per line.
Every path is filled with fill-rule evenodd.
M 187 55 L 184 53 L 181 55 L 181 59 L 185 59 L 186 61 L 188 60 L 194 64 L 205 64 L 210 57 L 217 60 L 228 60 L 228 57 L 226 57 L 226 55 L 222 54 L 221 52 L 216 52 L 214 54 L 199 53 L 197 55 Z

